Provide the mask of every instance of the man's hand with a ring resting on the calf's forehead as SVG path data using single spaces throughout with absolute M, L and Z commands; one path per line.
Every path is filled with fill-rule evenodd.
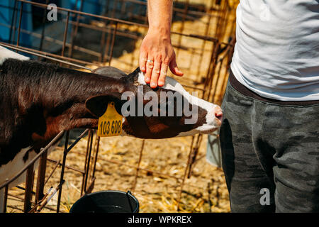
M 152 88 L 162 87 L 168 67 L 173 74 L 183 76 L 177 67 L 169 32 L 149 30 L 140 47 L 140 70 L 145 72 L 145 82 Z

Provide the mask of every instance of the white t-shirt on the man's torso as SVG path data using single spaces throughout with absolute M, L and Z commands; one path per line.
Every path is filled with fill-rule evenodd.
M 319 0 L 240 0 L 231 69 L 260 96 L 319 100 Z

